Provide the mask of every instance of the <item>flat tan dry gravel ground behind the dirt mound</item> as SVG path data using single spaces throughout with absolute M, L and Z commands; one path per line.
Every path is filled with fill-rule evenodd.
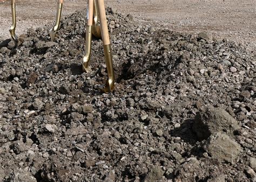
M 130 13 L 143 24 L 159 24 L 175 31 L 211 32 L 217 38 L 252 43 L 255 46 L 255 0 L 117 0 L 105 1 L 118 12 Z M 86 8 L 86 1 L 66 1 L 63 16 Z M 55 20 L 56 1 L 20 1 L 17 3 L 17 34 L 52 24 Z M 11 24 L 9 2 L 0 4 L 0 35 L 9 36 Z

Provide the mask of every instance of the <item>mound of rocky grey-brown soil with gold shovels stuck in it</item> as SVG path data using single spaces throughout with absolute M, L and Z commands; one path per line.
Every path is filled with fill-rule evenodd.
M 83 73 L 85 15 L 0 44 L 0 180 L 255 181 L 255 52 L 108 8 Z

